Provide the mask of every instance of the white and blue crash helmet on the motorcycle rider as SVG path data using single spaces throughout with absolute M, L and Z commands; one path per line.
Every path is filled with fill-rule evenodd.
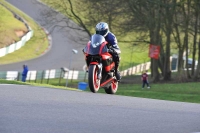
M 105 22 L 99 22 L 96 25 L 96 34 L 102 35 L 102 36 L 106 36 L 109 32 L 109 27 L 108 24 Z

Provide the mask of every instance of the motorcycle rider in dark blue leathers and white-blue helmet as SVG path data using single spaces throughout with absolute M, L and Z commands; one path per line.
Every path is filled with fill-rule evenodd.
M 120 72 L 119 72 L 119 63 L 120 63 L 120 48 L 117 44 L 117 38 L 115 35 L 109 31 L 108 24 L 105 22 L 100 22 L 96 25 L 96 34 L 100 34 L 104 36 L 105 40 L 112 46 L 110 49 L 110 53 L 113 56 L 113 60 L 115 62 L 115 75 L 117 80 L 121 79 Z

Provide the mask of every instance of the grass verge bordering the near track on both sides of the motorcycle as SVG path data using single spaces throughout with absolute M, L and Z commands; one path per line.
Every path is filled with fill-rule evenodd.
M 40 84 L 41 81 L 7 81 L 0 80 L 0 84 L 23 84 L 23 85 L 33 85 L 33 86 L 43 86 L 49 88 L 58 88 L 58 89 L 70 89 L 78 90 L 78 81 L 68 81 L 68 87 L 66 88 L 66 80 L 62 79 L 59 84 L 59 79 L 56 80 L 43 80 L 43 84 Z M 48 84 L 47 84 L 48 83 Z M 90 92 L 89 87 L 86 91 Z M 103 88 L 100 88 L 98 93 L 105 93 Z M 160 99 L 160 100 L 169 100 L 169 101 L 179 101 L 179 102 L 190 102 L 190 103 L 200 103 L 200 83 L 180 83 L 180 84 L 151 84 L 150 89 L 142 89 L 141 84 L 122 84 L 119 83 L 117 93 L 115 95 L 130 96 L 130 97 L 141 97 L 141 98 L 150 98 L 150 99 Z

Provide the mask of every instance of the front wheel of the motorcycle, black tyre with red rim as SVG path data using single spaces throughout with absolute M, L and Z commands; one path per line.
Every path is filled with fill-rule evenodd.
M 100 87 L 100 80 L 97 78 L 98 67 L 96 65 L 90 65 L 88 71 L 88 82 L 91 92 L 96 93 Z

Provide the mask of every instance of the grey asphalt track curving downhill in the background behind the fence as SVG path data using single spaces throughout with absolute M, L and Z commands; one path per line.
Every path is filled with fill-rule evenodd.
M 38 24 L 50 31 L 52 25 L 46 24 L 46 19 L 42 13 L 50 8 L 39 3 L 37 0 L 6 0 L 10 4 L 14 5 L 28 16 L 33 18 Z M 63 16 L 57 15 L 57 18 L 63 18 Z M 56 23 L 57 25 L 66 25 L 65 23 Z M 73 23 L 72 23 L 73 24 Z M 75 25 L 75 24 L 74 24 Z M 61 67 L 74 68 L 75 70 L 83 70 L 85 65 L 82 49 L 86 45 L 86 41 L 77 42 L 79 36 L 85 36 L 84 33 L 78 34 L 74 30 L 64 28 L 59 30 L 56 28 L 51 32 L 52 45 L 51 49 L 43 56 L 18 62 L 8 65 L 0 65 L 0 71 L 22 71 L 22 65 L 27 64 L 29 70 L 47 70 L 47 69 L 60 69 Z M 78 54 L 74 54 L 72 49 L 78 50 Z M 71 63 L 70 63 L 71 62 Z

